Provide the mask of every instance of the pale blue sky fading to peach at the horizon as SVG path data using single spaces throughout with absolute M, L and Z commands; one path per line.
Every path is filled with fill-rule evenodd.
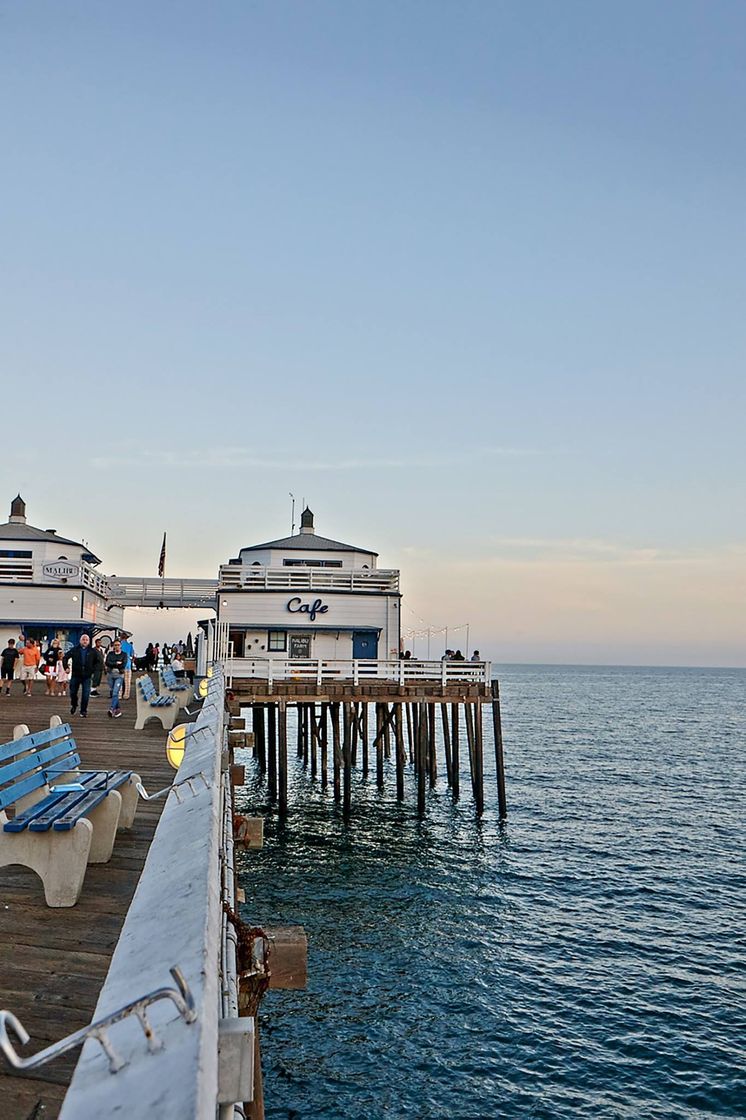
M 745 48 L 726 0 L 0 0 L 0 503 L 209 577 L 295 494 L 436 655 L 745 665 Z

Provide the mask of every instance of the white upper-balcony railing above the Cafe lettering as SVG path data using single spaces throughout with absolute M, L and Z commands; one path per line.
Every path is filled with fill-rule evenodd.
M 221 588 L 286 591 L 398 591 L 399 572 L 377 568 L 261 568 L 224 563 L 220 569 Z

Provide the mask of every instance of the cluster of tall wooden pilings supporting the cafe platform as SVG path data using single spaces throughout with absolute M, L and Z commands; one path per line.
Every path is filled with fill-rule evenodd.
M 338 700 L 318 701 L 308 697 L 271 700 L 263 697 L 261 702 L 244 700 L 241 707 L 252 712 L 254 757 L 260 773 L 267 775 L 270 802 L 277 803 L 282 815 L 288 812 L 288 708 L 292 707 L 297 710 L 298 758 L 302 759 L 311 780 L 320 781 L 323 790 L 332 783 L 334 800 L 342 803 L 345 818 L 352 813 L 353 769 L 360 768 L 366 778 L 375 768 L 376 785 L 383 790 L 384 760 L 392 757 L 395 759 L 397 800 L 404 801 L 404 774 L 409 765 L 416 777 L 417 812 L 425 813 L 427 790 L 438 780 L 438 721 L 446 760 L 445 776 L 453 799 L 458 801 L 460 796 L 461 750 L 465 748 L 474 804 L 477 816 L 482 816 L 485 704 L 492 708 L 497 804 L 502 820 L 507 815 L 507 803 L 497 681 L 492 682 L 489 696 L 468 699 L 413 699 L 390 694 L 375 699 L 343 696 Z

